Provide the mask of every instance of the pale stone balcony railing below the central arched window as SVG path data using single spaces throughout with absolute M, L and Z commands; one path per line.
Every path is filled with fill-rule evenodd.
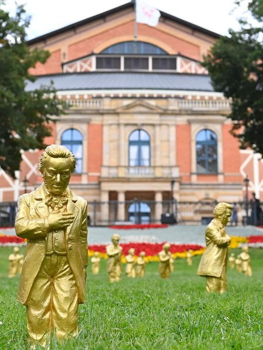
M 102 178 L 178 178 L 177 166 L 102 166 Z

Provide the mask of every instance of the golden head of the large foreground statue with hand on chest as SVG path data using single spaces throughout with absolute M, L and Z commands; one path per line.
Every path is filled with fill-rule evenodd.
M 75 167 L 75 156 L 65 146 L 50 145 L 39 158 L 39 170 L 44 183 L 55 196 L 62 195 L 66 190 Z

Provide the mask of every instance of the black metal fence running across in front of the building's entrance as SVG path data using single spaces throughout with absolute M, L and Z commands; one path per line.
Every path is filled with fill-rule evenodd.
M 216 201 L 177 202 L 170 201 L 109 201 L 89 202 L 89 226 L 108 226 L 120 223 L 178 223 L 206 225 L 212 218 Z M 251 203 L 232 203 L 236 208 L 236 217 L 232 225 L 262 225 L 263 214 L 260 206 L 253 208 Z M 0 203 L 0 227 L 14 226 L 17 210 L 16 202 Z

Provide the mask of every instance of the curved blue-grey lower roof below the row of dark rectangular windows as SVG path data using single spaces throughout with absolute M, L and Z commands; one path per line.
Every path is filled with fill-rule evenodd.
M 181 73 L 64 73 L 36 77 L 28 82 L 26 90 L 39 89 L 50 85 L 51 81 L 58 91 L 67 90 L 187 90 L 212 92 L 208 75 Z

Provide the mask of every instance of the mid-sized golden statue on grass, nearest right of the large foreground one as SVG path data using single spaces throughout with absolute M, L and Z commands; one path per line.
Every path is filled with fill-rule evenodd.
M 111 237 L 112 244 L 106 246 L 106 252 L 109 256 L 107 261 L 107 272 L 110 282 L 118 282 L 122 278 L 122 251 L 119 246 L 119 235 L 113 234 Z

